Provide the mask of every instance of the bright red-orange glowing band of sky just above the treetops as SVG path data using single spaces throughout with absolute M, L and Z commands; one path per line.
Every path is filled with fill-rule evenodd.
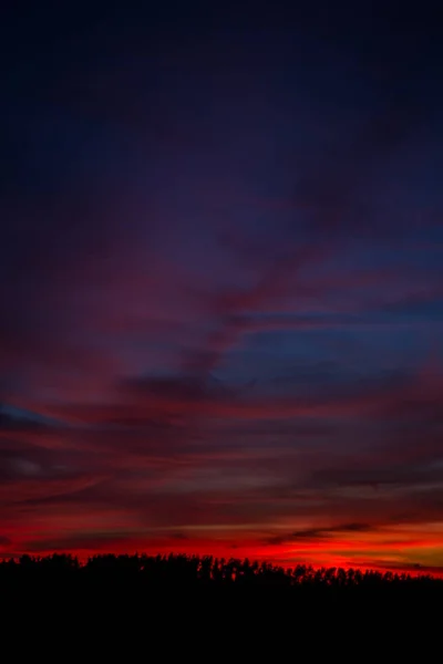
M 87 518 L 83 526 L 87 522 Z M 234 532 L 229 533 L 229 528 L 208 529 L 202 527 L 202 532 L 209 530 L 213 538 L 208 539 L 198 535 L 198 529 L 189 528 L 188 535 L 176 538 L 162 537 L 161 532 L 154 537 L 136 537 L 135 532 L 131 535 L 128 530 L 114 535 L 114 540 L 109 531 L 100 531 L 94 528 L 94 519 L 90 521 L 89 532 L 83 531 L 83 538 L 87 541 L 84 546 L 78 544 L 72 549 L 54 551 L 45 542 L 49 541 L 50 531 L 40 532 L 37 537 L 38 546 L 34 550 L 27 547 L 24 532 L 17 533 L 17 541 L 22 542 L 23 549 L 17 551 L 17 556 L 27 552 L 35 556 L 50 556 L 53 552 L 68 552 L 76 556 L 81 561 L 85 561 L 94 554 L 114 553 L 114 554 L 168 554 L 184 553 L 198 556 L 213 556 L 216 558 L 237 558 L 258 561 L 268 561 L 272 564 L 290 568 L 297 564 L 308 564 L 313 568 L 358 568 L 364 570 L 382 570 L 393 572 L 408 572 L 410 574 L 431 573 L 435 577 L 443 577 L 443 543 L 442 529 L 443 523 L 433 525 L 408 525 L 393 527 L 392 529 L 380 529 L 377 532 L 353 532 L 333 533 L 324 539 L 309 540 L 305 538 L 299 541 L 288 541 L 276 544 L 259 544 L 257 539 L 243 532 L 235 532 L 236 543 L 233 544 Z M 102 523 L 103 526 L 103 523 Z M 430 537 L 430 531 L 433 535 Z M 186 531 L 186 529 L 184 529 Z M 218 530 L 218 532 L 217 532 Z M 60 537 L 60 530 L 59 537 Z M 420 532 L 426 532 L 426 537 L 420 537 Z M 217 535 L 216 535 L 217 533 Z M 29 533 L 28 533 L 29 535 Z M 35 533 L 37 535 L 37 533 Z M 55 536 L 55 533 L 54 533 Z M 349 536 L 349 537 L 348 537 Z M 82 538 L 81 538 L 82 539 Z

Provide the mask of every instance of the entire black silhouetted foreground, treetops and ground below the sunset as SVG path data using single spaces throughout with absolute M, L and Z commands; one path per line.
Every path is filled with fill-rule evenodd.
M 106 649 L 120 658 L 119 647 L 130 662 L 177 652 L 186 661 L 317 661 L 344 651 L 426 661 L 441 641 L 443 580 L 210 557 L 23 557 L 0 563 L 0 608 L 12 625 L 1 622 L 3 636 L 16 630 L 16 643 L 34 653 L 42 635 L 44 649 L 62 640 L 87 661 Z M 135 644 L 142 651 L 130 655 Z

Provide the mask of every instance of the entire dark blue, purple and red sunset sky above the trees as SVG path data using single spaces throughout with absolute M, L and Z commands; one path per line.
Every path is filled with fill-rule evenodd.
M 432 4 L 60 4 L 0 29 L 0 557 L 443 573 Z

